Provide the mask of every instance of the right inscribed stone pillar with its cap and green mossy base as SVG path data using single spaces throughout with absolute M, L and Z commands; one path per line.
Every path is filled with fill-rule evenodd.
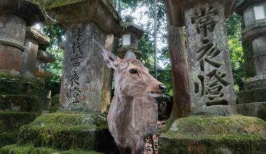
M 235 92 L 225 18 L 232 13 L 235 1 L 167 0 L 166 4 L 169 24 L 186 27 L 193 116 L 175 120 L 160 136 L 159 153 L 265 152 L 265 122 L 234 115 Z M 252 126 L 262 130 L 247 129 Z M 256 148 L 251 149 L 253 146 Z

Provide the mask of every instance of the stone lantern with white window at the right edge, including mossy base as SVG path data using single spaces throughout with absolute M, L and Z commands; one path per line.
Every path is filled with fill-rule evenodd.
M 253 57 L 250 58 L 255 62 L 256 72 L 239 92 L 237 112 L 263 118 L 266 113 L 266 1 L 239 1 L 237 13 L 244 17 L 242 35 L 244 41 L 252 43 Z

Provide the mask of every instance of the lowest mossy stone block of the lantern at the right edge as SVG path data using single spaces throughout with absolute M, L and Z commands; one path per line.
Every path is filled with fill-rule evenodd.
M 237 113 L 244 116 L 253 116 L 266 121 L 266 102 L 237 104 Z

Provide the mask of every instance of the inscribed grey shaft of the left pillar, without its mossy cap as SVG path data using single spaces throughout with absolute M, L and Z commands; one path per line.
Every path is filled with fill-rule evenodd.
M 97 43 L 104 45 L 104 41 L 104 34 L 92 22 L 67 29 L 61 110 L 101 111 L 103 58 Z

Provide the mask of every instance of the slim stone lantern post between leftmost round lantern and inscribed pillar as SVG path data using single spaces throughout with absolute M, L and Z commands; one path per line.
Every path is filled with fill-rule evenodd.
M 29 78 L 34 78 L 38 45 L 48 44 L 49 41 L 50 38 L 48 38 L 48 36 L 45 36 L 40 31 L 34 29 L 34 27 L 27 27 L 25 50 L 23 52 L 20 74 Z

